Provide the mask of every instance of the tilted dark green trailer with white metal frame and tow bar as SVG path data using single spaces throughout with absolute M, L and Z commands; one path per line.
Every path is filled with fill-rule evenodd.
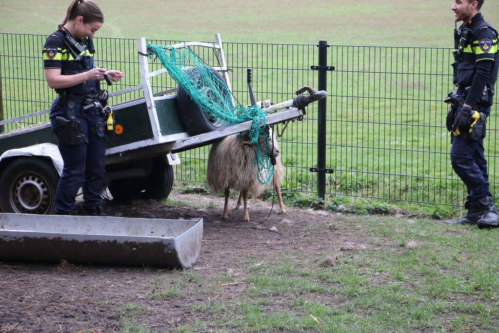
M 228 88 L 227 64 L 220 34 L 216 43 L 183 42 L 175 48 L 201 46 L 216 51 Z M 137 39 L 139 52 L 147 53 L 145 38 Z M 195 136 L 187 133 L 178 115 L 175 90 L 153 93 L 150 80 L 164 75 L 166 69 L 149 72 L 147 56 L 140 57 L 141 85 L 110 93 L 120 95 L 140 90 L 143 97 L 113 106 L 116 128 L 122 133 L 106 138 L 105 183 L 115 198 L 127 198 L 141 193 L 147 198 L 165 198 L 173 185 L 173 165 L 180 164 L 177 153 L 209 145 L 228 135 L 250 128 L 246 122 L 223 127 L 213 122 L 213 130 Z M 269 106 L 267 124 L 274 125 L 301 118 L 305 106 L 326 95 L 303 87 L 297 95 L 308 90 L 310 95 Z M 309 98 L 310 97 L 310 98 Z M 309 98 L 307 100 L 307 98 Z M 49 110 L 1 121 L 3 124 L 48 113 Z M 201 112 L 203 113 L 203 112 Z M 14 130 L 0 135 L 0 211 L 4 213 L 50 214 L 54 211 L 55 190 L 62 172 L 62 159 L 57 148 L 57 138 L 49 122 Z

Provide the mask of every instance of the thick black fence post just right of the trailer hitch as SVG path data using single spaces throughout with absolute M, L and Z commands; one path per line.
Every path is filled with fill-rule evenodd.
M 327 71 L 334 70 L 334 67 L 327 66 L 327 40 L 319 40 L 319 64 L 310 66 L 311 69 L 318 70 L 319 80 L 317 90 L 326 90 Z M 318 122 L 317 122 L 317 167 L 311 167 L 311 172 L 317 172 L 317 195 L 322 199 L 326 197 L 326 173 L 332 173 L 332 169 L 326 169 L 326 98 L 317 102 Z

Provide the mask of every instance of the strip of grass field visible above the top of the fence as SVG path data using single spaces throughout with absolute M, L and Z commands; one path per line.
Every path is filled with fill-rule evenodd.
M 0 1 L 0 32 L 47 34 L 65 16 L 69 0 Z M 378 46 L 452 46 L 453 1 L 318 0 L 97 1 L 106 16 L 98 36 L 172 40 L 315 43 Z M 485 17 L 499 25 L 499 3 Z

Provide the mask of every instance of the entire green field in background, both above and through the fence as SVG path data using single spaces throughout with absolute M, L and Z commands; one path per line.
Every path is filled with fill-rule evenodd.
M 489 3 L 490 2 L 490 3 Z M 391 198 L 418 202 L 462 204 L 465 189 L 454 174 L 444 127 L 447 108 L 441 100 L 452 90 L 450 77 L 452 2 L 318 1 L 290 5 L 284 1 L 171 2 L 100 1 L 106 22 L 98 31 L 98 65 L 124 71 L 127 77 L 112 90 L 140 83 L 135 41 L 145 36 L 165 40 L 213 41 L 220 32 L 233 70 L 231 82 L 238 101 L 249 103 L 246 68 L 253 68 L 256 99 L 280 102 L 304 85 L 317 86 L 319 39 L 328 40 L 327 175 L 330 194 Z M 44 36 L 62 20 L 67 1 L 0 2 L 1 54 L 19 54 L 1 62 L 4 98 L 10 117 L 49 107 L 48 89 L 38 52 Z M 484 14 L 499 24 L 499 4 L 486 1 Z M 35 18 L 37 17 L 37 18 Z M 121 39 L 123 38 L 123 39 Z M 156 40 L 155 40 L 156 39 Z M 267 44 L 272 43 L 272 44 Z M 292 44 L 292 45 L 290 45 Z M 362 46 L 367 45 L 367 46 Z M 211 53 L 201 57 L 214 64 Z M 159 68 L 158 65 L 152 69 Z M 157 90 L 174 87 L 171 80 L 153 82 Z M 15 96 L 15 97 L 12 97 Z M 136 98 L 129 94 L 112 103 Z M 497 105 L 493 107 L 493 115 Z M 28 112 L 26 112 L 28 110 Z M 279 139 L 286 167 L 285 187 L 317 190 L 317 110 L 308 108 L 302 122 L 291 123 Z M 45 120 L 40 117 L 38 121 Z M 486 153 L 495 191 L 496 121 L 489 119 Z M 19 125 L 19 126 L 22 126 Z M 14 125 L 15 127 L 15 125 Z M 208 147 L 182 154 L 181 180 L 204 182 Z

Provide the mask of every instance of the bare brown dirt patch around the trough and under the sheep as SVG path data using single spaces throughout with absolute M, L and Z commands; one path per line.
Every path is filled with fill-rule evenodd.
M 259 228 L 275 227 L 279 233 L 250 227 L 262 222 L 269 202 L 250 202 L 250 223 L 243 210 L 230 211 L 221 221 L 223 198 L 172 192 L 174 203 L 135 200 L 104 203 L 109 216 L 190 219 L 204 218 L 201 254 L 189 269 L 201 280 L 183 287 L 181 295 L 150 297 L 161 281 L 179 281 L 185 274 L 154 267 L 88 266 L 55 263 L 0 263 L 0 333 L 6 332 L 122 332 L 123 309 L 140 308 L 140 323 L 147 332 L 168 332 L 208 316 L 192 306 L 215 298 L 233 299 L 248 284 L 227 284 L 218 295 L 197 290 L 210 279 L 234 276 L 247 269 L 248 256 L 272 260 L 282 253 L 320 257 L 338 251 L 339 244 L 368 244 L 361 236 L 342 231 L 345 214 L 287 207 L 279 215 L 274 204 L 269 219 Z M 176 202 L 176 203 L 175 203 Z M 231 205 L 235 200 L 231 199 Z M 362 245 L 364 246 L 364 245 Z M 369 245 L 367 245 L 369 246 Z M 279 302 L 275 302 L 278 310 Z M 88 331 L 86 331 L 88 330 Z M 136 332 L 136 331 L 132 331 Z M 139 331 L 137 331 L 139 332 Z M 142 332 L 142 331 L 140 331 Z

